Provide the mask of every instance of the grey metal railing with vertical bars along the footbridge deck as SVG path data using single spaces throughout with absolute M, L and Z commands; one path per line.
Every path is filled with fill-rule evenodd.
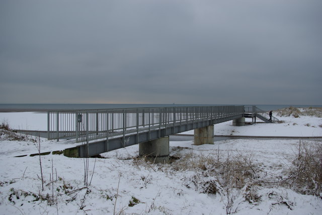
M 244 106 L 185 106 L 106 110 L 48 111 L 48 139 L 76 142 L 108 139 L 175 125 L 226 119 L 244 113 Z

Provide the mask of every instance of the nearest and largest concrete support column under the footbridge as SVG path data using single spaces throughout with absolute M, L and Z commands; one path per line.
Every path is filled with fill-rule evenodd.
M 154 163 L 169 163 L 169 137 L 139 143 L 139 156 Z

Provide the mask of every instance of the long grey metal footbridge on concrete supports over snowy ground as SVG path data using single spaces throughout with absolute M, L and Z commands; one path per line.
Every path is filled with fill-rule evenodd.
M 257 112 L 256 106 L 244 105 L 55 110 L 48 111 L 48 139 L 75 139 L 79 146 L 64 152 L 70 157 L 91 157 L 139 144 L 140 155 L 167 162 L 169 135 L 194 130 L 195 145 L 213 144 L 213 125 L 232 120 L 242 126 L 245 117 L 256 121 Z

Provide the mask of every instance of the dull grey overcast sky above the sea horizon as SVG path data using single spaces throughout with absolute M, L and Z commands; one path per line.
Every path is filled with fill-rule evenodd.
M 0 1 L 0 103 L 322 104 L 321 0 Z

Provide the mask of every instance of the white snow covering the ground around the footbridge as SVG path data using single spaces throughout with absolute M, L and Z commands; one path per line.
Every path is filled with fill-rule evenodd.
M 215 135 L 322 136 L 321 118 L 278 118 L 284 122 L 244 127 L 233 127 L 231 121 L 217 124 Z M 0 113 L 0 123 L 4 120 L 13 129 L 45 131 L 47 128 L 46 114 Z M 237 215 L 322 214 L 321 197 L 303 195 L 274 184 L 245 185 L 231 189 L 227 195 L 205 193 L 204 185 L 215 177 L 209 167 L 203 171 L 191 166 L 201 158 L 244 156 L 262 174 L 276 180 L 284 177 L 298 143 L 295 139 L 248 139 L 195 146 L 193 141 L 171 141 L 170 155 L 180 158 L 172 164 L 147 163 L 137 158 L 138 146 L 134 145 L 104 153 L 105 158 L 89 158 L 89 181 L 92 174 L 93 178 L 87 186 L 84 185 L 85 159 L 49 154 L 41 156 L 45 180 L 42 191 L 39 156 L 15 157 L 37 153 L 37 143 L 3 138 L 0 141 L 0 214 L 226 214 L 227 197 L 233 199 L 231 212 Z M 57 143 L 41 139 L 41 152 L 72 146 L 71 140 Z M 253 202 L 247 200 L 247 194 L 253 196 Z M 43 200 L 39 199 L 40 195 Z M 129 206 L 134 199 L 138 202 Z

